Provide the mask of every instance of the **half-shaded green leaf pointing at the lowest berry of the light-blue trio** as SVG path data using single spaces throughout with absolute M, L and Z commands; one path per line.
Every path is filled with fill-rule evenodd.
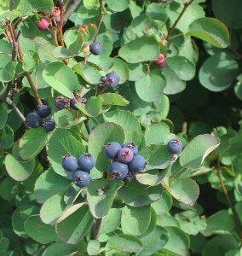
M 65 191 L 71 181 L 54 172 L 51 168 L 37 178 L 34 188 L 34 195 L 39 203 L 47 201 L 51 196 Z

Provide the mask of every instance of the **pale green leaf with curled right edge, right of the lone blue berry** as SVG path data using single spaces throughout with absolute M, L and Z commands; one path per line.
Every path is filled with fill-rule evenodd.
M 199 168 L 206 156 L 216 149 L 219 144 L 220 140 L 210 134 L 194 137 L 180 155 L 181 166 L 189 169 Z

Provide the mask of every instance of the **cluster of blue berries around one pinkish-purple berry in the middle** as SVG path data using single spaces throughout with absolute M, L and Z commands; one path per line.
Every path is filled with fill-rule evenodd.
M 123 179 L 135 177 L 137 172 L 145 169 L 147 161 L 138 154 L 135 143 L 124 143 L 122 146 L 117 142 L 107 143 L 105 154 L 112 160 L 109 166 L 109 173 L 112 178 Z

